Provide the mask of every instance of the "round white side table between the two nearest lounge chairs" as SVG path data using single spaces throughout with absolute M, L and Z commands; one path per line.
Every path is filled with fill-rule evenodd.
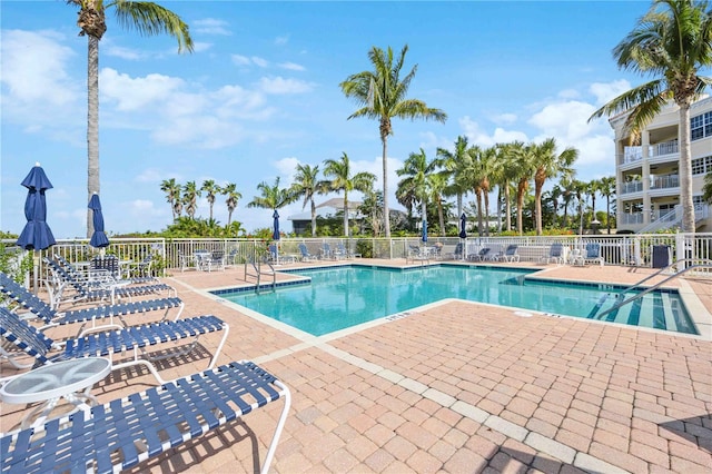
M 42 402 L 20 424 L 21 428 L 38 426 L 44 423 L 62 398 L 75 405 L 72 413 L 97 405 L 97 398 L 90 394 L 91 387 L 110 372 L 111 361 L 103 357 L 43 365 L 18 375 L 0 387 L 0 399 L 12 404 Z M 37 419 L 32 422 L 36 416 Z

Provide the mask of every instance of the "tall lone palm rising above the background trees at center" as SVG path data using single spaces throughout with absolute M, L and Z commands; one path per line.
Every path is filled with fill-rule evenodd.
M 390 120 L 393 118 L 411 119 L 422 118 L 445 122 L 447 115 L 427 107 L 417 99 L 407 99 L 406 95 L 411 81 L 415 77 L 417 65 L 400 79 L 400 69 L 405 61 L 408 46 L 404 46 L 400 56 L 394 62 L 390 47 L 386 51 L 373 47 L 368 51 L 368 59 L 374 66 L 373 71 L 363 71 L 346 78 L 339 86 L 344 95 L 363 106 L 348 119 L 367 117 L 378 120 L 380 144 L 383 146 L 383 216 L 386 237 L 390 237 L 390 217 L 388 215 L 388 136 L 393 135 Z

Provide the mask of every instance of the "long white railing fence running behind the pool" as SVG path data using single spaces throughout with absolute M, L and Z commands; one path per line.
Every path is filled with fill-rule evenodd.
M 279 255 L 301 256 L 299 245 L 305 244 L 313 256 L 323 256 L 325 245 L 332 249 L 346 249 L 347 255 L 363 258 L 395 259 L 405 258 L 411 246 L 427 245 L 438 248 L 443 259 L 454 259 L 457 244 L 464 244 L 466 255 L 476 254 L 484 246 L 504 249 L 510 244 L 518 246 L 522 261 L 537 261 L 548 254 L 552 244 L 560 243 L 570 250 L 583 250 L 587 243 L 599 243 L 606 265 L 652 266 L 652 247 L 665 245 L 671 248 L 673 261 L 684 258 L 712 259 L 712 233 L 705 234 L 635 234 L 635 235 L 585 235 L 585 236 L 511 236 L 511 237 L 428 237 L 427 244 L 419 237 L 397 238 L 284 238 L 279 240 Z M 17 254 L 13 240 L 3 240 L 8 251 Z M 260 239 L 212 239 L 212 238 L 113 238 L 109 247 L 101 251 L 117 255 L 121 260 L 140 261 L 147 255 L 154 256 L 151 273 L 166 276 L 180 271 L 181 256 L 194 255 L 199 250 L 220 251 L 227 257 L 227 266 L 243 265 L 255 257 L 267 254 L 268 241 Z M 100 250 L 89 246 L 88 239 L 58 240 L 57 245 L 34 255 L 36 271 L 41 283 L 47 270 L 41 257 L 60 255 L 70 263 L 88 261 Z M 26 278 L 32 282 L 33 278 Z

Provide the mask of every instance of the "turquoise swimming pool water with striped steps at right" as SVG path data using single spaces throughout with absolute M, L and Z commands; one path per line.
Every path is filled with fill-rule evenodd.
M 279 287 L 276 292 L 263 290 L 259 295 L 254 290 L 214 293 L 320 336 L 444 298 L 597 319 L 623 289 L 527 279 L 528 270 L 477 266 L 414 269 L 344 266 L 294 273 L 312 282 Z M 602 319 L 696 334 L 679 295 L 671 292 L 651 293 Z

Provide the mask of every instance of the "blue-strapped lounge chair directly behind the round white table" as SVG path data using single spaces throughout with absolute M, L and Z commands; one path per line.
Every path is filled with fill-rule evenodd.
M 216 316 L 196 316 L 178 320 L 164 320 L 55 342 L 34 326 L 31 326 L 27 320 L 22 319 L 17 313 L 0 307 L 0 336 L 18 349 L 34 357 L 34 361 L 33 364 L 22 364 L 18 362 L 18 352 L 9 350 L 6 344 L 2 344 L 0 347 L 0 356 L 7 358 L 18 368 L 26 368 L 79 357 L 106 357 L 113 354 L 125 354 L 130 350 L 134 353 L 132 358 L 119 364 L 112 364 L 112 369 L 144 365 L 150 371 L 154 377 L 156 377 L 159 384 L 165 384 L 166 382 L 158 374 L 154 362 L 187 354 L 197 346 L 198 339 L 202 334 L 215 333 L 217 330 L 222 330 L 224 335 L 210 359 L 208 368 L 215 366 L 229 333 L 229 326 Z M 192 340 L 178 349 L 174 348 L 168 350 L 167 354 L 151 356 L 146 353 L 147 347 L 187 338 L 192 338 Z M 50 355 L 49 353 L 52 349 L 61 352 Z

